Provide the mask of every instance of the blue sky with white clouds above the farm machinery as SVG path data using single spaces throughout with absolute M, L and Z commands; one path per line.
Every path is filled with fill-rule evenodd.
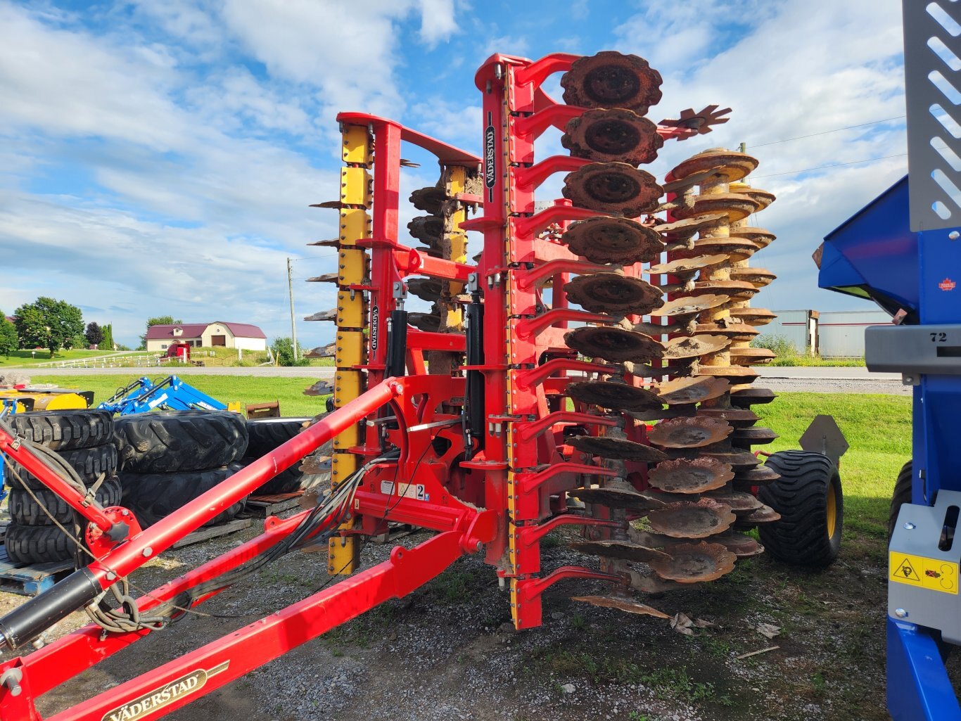
M 810 255 L 906 172 L 903 119 L 764 143 L 903 115 L 898 0 L 0 0 L 0 309 L 52 295 L 128 344 L 167 313 L 284 336 L 291 257 L 305 259 L 298 336 L 321 345 L 331 324 L 300 318 L 333 307 L 331 286 L 303 279 L 333 270 L 332 251 L 306 243 L 334 235 L 333 211 L 308 205 L 335 196 L 336 112 L 476 152 L 487 56 L 604 49 L 661 72 L 654 120 L 733 109 L 647 169 L 748 144 L 753 185 L 778 196 L 755 218 L 778 236 L 755 262 L 779 276 L 755 305 L 872 308 L 818 290 Z M 537 152 L 558 150 L 559 133 Z M 794 172 L 884 156 L 899 157 Z M 406 173 L 410 189 L 435 181 L 430 162 Z

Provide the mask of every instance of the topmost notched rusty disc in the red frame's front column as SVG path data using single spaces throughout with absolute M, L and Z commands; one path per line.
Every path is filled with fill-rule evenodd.
M 611 50 L 579 58 L 560 79 L 567 105 L 627 108 L 640 115 L 660 101 L 660 85 L 660 73 L 646 60 Z

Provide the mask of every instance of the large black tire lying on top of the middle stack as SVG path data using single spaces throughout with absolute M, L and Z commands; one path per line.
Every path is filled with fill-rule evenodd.
M 202 471 L 233 463 L 247 448 L 247 424 L 229 410 L 161 410 L 116 419 L 125 471 Z

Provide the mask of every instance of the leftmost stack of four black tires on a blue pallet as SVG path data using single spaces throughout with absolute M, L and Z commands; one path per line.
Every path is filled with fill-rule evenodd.
M 96 486 L 94 496 L 101 506 L 120 505 L 122 491 L 116 477 L 118 454 L 110 412 L 14 413 L 10 424 L 16 435 L 58 453 L 77 472 L 87 490 Z M 53 520 L 55 518 L 71 535 L 83 537 L 82 529 L 75 525 L 73 510 L 16 463 L 12 472 L 8 469 L 6 480 L 10 488 L 11 515 L 5 540 L 8 558 L 14 563 L 74 558 L 75 544 Z

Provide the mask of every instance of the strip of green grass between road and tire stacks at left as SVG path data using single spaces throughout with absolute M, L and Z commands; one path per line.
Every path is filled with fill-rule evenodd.
M 163 369 L 149 368 L 152 371 L 146 375 L 160 376 Z M 173 369 L 176 373 L 176 369 Z M 91 376 L 35 376 L 31 375 L 34 383 L 52 383 L 64 388 L 78 388 L 92 390 L 94 404 L 105 401 L 113 392 L 124 385 L 135 381 L 144 373 L 118 373 L 110 375 Z M 304 389 L 314 384 L 316 378 L 262 378 L 248 376 L 184 376 L 184 381 L 207 393 L 218 401 L 228 403 L 239 401 L 242 405 L 248 403 L 267 403 L 280 401 L 281 413 L 287 416 L 316 415 L 323 412 L 324 397 L 306 396 Z

